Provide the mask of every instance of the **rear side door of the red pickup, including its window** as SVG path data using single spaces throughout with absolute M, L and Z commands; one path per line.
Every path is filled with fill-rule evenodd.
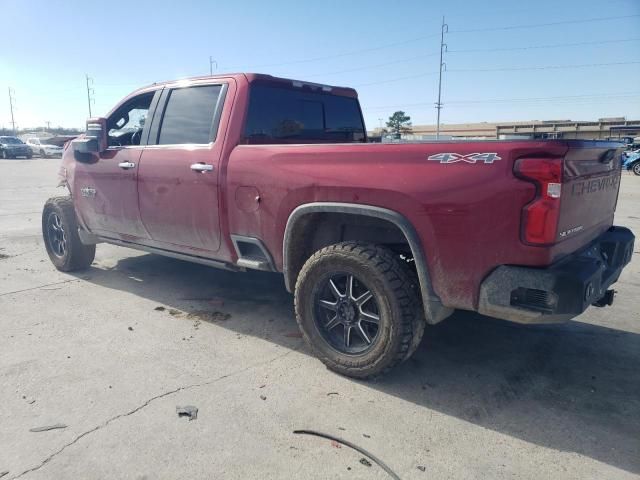
M 220 247 L 218 126 L 225 83 L 167 87 L 140 159 L 142 222 L 159 247 L 212 256 Z

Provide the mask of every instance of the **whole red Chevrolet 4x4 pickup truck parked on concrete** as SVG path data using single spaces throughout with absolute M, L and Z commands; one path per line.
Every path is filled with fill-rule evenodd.
M 107 242 L 282 272 L 304 338 L 366 378 L 455 309 L 565 321 L 610 290 L 634 236 L 614 227 L 621 145 L 367 143 L 357 94 L 269 75 L 135 91 L 64 152 L 69 196 L 42 229 L 62 271 Z

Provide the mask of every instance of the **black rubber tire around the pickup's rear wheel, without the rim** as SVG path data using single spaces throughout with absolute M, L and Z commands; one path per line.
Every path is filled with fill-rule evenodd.
M 347 354 L 325 340 L 316 322 L 315 292 L 333 272 L 364 279 L 376 299 L 380 323 L 371 349 Z M 390 250 L 342 242 L 316 252 L 302 267 L 295 287 L 295 310 L 302 334 L 318 358 L 340 374 L 368 379 L 388 372 L 415 351 L 424 333 L 417 277 Z

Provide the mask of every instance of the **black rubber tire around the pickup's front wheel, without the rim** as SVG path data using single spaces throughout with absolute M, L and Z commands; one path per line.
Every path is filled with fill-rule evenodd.
M 55 252 L 49 221 L 57 215 L 62 225 L 66 248 L 62 255 Z M 85 245 L 78 235 L 78 221 L 71 197 L 53 197 L 47 200 L 42 210 L 42 236 L 51 262 L 62 272 L 82 270 L 93 262 L 96 255 L 95 245 Z

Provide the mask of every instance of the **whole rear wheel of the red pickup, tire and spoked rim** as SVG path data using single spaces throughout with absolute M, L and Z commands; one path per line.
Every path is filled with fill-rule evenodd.
M 397 255 L 371 244 L 343 242 L 316 252 L 295 289 L 305 340 L 328 368 L 375 377 L 407 359 L 420 341 L 415 276 Z

